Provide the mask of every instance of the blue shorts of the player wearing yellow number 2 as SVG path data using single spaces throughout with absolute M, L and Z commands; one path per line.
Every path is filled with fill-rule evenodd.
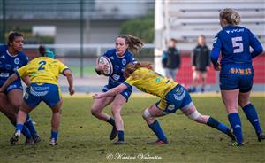
M 24 101 L 32 108 L 42 101 L 52 107 L 57 105 L 60 99 L 61 91 L 58 86 L 49 83 L 31 83 L 24 96 Z

